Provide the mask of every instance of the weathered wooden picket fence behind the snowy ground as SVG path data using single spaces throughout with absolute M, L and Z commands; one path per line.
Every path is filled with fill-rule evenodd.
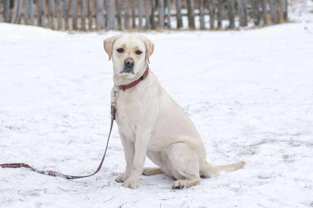
M 288 21 L 288 0 L 0 0 L 0 21 L 82 31 L 235 29 Z

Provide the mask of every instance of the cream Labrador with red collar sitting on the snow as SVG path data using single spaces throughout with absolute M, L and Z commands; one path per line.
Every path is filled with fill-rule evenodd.
M 153 42 L 125 33 L 104 40 L 104 49 L 113 63 L 111 103 L 126 160 L 125 173 L 115 181 L 136 188 L 141 174 L 165 173 L 175 180 L 172 188 L 192 187 L 201 177 L 244 166 L 244 161 L 224 166 L 206 161 L 195 125 L 148 68 Z M 143 168 L 146 156 L 158 167 Z

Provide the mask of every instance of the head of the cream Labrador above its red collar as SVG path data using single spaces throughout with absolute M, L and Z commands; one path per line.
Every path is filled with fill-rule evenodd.
M 150 63 L 154 44 L 146 37 L 125 33 L 104 40 L 104 50 L 109 61 L 112 58 L 114 76 L 133 79 Z

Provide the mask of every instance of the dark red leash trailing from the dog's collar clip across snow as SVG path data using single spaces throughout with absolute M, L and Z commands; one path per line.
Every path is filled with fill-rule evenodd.
M 65 175 L 65 174 L 62 174 L 62 173 L 59 173 L 59 172 L 56 172 L 56 171 L 53 171 L 53 170 L 38 170 L 38 169 L 35 169 L 32 166 L 29 166 L 29 165 L 24 164 L 24 163 L 1 164 L 0 167 L 2 167 L 2 168 L 21 168 L 21 167 L 25 167 L 25 168 L 28 168 L 28 169 L 30 169 L 32 171 L 40 173 L 40 174 L 54 176 L 54 177 L 61 177 L 61 178 L 65 178 L 65 179 L 79 179 L 79 178 L 86 178 L 86 177 L 93 176 L 94 174 L 96 174 L 97 172 L 100 171 L 100 169 L 101 169 L 101 167 L 103 165 L 104 158 L 106 156 L 108 145 L 109 145 L 109 140 L 110 140 L 110 136 L 111 136 L 111 132 L 112 132 L 112 126 L 113 126 L 113 123 L 114 123 L 114 120 L 115 120 L 115 111 L 116 111 L 116 107 L 115 107 L 115 105 L 112 105 L 111 106 L 111 127 L 110 127 L 110 132 L 109 132 L 109 136 L 108 136 L 108 140 L 107 140 L 107 146 L 106 146 L 106 149 L 104 151 L 101 163 L 98 166 L 98 169 L 94 173 L 92 173 L 91 175 L 85 175 L 85 176 Z

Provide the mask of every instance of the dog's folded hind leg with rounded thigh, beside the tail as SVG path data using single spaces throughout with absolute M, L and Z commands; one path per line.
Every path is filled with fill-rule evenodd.
M 185 143 L 175 143 L 168 149 L 171 172 L 177 181 L 172 188 L 192 187 L 200 184 L 199 157 Z

